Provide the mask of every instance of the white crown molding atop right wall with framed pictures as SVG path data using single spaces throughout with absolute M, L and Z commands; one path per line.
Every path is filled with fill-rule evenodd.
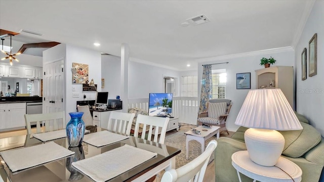
M 297 31 L 295 33 L 295 36 L 294 36 L 294 39 L 293 39 L 293 42 L 292 42 L 292 48 L 295 50 L 296 49 L 296 46 L 299 42 L 299 39 L 300 39 L 300 36 L 302 35 L 303 31 L 304 31 L 304 28 L 305 28 L 305 25 L 306 25 L 306 22 L 308 20 L 308 17 L 313 9 L 313 6 L 315 4 L 315 1 L 307 1 L 306 2 L 306 6 L 305 6 L 305 9 L 304 9 L 304 12 L 303 12 L 303 15 L 299 21 L 299 24 L 298 24 L 298 27 L 297 27 Z

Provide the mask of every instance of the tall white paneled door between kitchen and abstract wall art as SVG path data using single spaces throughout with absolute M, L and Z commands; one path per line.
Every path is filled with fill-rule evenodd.
M 64 59 L 44 65 L 43 113 L 64 110 Z

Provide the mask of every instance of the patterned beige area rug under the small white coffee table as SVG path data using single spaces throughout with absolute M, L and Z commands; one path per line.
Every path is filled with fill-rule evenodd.
M 181 126 L 179 131 L 171 130 L 166 133 L 165 144 L 171 147 L 175 147 L 181 150 L 181 153 L 176 155 L 176 168 L 179 168 L 188 162 L 192 161 L 201 154 L 201 145 L 197 141 L 189 142 L 189 156 L 186 159 L 186 131 L 190 130 L 190 127 L 195 127 L 194 125 Z M 216 140 L 216 136 L 212 136 L 205 143 L 206 147 L 211 140 Z M 209 163 L 214 160 L 214 154 L 212 154 Z

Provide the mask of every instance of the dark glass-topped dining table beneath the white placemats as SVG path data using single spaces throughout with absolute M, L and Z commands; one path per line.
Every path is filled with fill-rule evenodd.
M 102 128 L 98 128 L 98 131 L 101 130 Z M 21 135 L 21 138 L 26 139 L 26 137 L 30 138 L 30 135 Z M 66 138 L 58 139 L 55 140 L 54 142 L 63 147 L 68 148 Z M 31 145 L 38 145 L 38 144 L 42 144 L 42 142 L 35 138 L 30 138 L 26 146 L 29 147 Z M 179 149 L 166 146 L 163 144 L 156 144 L 154 142 L 142 140 L 140 138 L 135 138 L 133 136 L 130 136 L 130 138 L 127 140 L 120 141 L 99 148 L 83 143 L 83 150 L 84 150 L 85 158 L 89 158 L 107 152 L 109 150 L 121 147 L 125 144 L 133 147 L 141 148 L 147 151 L 156 152 L 157 156 L 134 167 L 129 171 L 126 171 L 110 179 L 109 181 L 145 181 L 165 168 L 167 169 L 175 168 L 174 167 L 175 156 L 180 153 Z M 23 147 L 23 144 L 22 146 L 15 146 L 15 147 Z M 0 157 L 0 160 L 1 160 L 1 164 L 0 164 L 1 177 L 3 179 L 6 179 L 8 177 L 13 182 L 26 181 L 27 178 L 45 180 L 45 181 L 68 181 L 69 176 L 71 174 L 71 172 L 67 169 L 66 166 L 68 161 L 67 158 L 63 158 L 53 162 L 48 162 L 44 165 L 40 165 L 34 168 L 25 169 L 17 174 L 13 174 L 11 172 L 11 170 L 8 168 L 8 166 L 6 165 L 2 157 Z M 39 171 L 42 171 L 43 174 Z M 44 173 L 46 173 L 46 175 L 49 177 L 42 178 L 42 176 L 44 177 Z M 92 181 L 92 180 L 85 175 L 82 179 L 76 181 Z

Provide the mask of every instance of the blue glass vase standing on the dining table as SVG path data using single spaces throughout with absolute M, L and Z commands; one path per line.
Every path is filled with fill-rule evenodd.
M 66 125 L 66 137 L 70 147 L 77 147 L 82 144 L 85 136 L 85 122 L 82 120 L 84 112 L 71 112 L 71 120 Z

